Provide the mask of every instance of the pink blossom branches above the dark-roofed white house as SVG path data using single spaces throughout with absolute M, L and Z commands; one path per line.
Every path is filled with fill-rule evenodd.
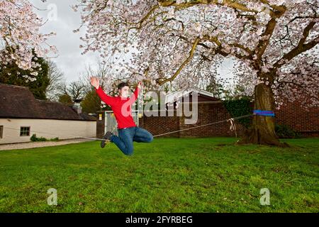
M 36 76 L 36 68 L 40 65 L 33 60 L 35 55 L 45 57 L 56 50 L 46 43 L 54 33 L 39 32 L 43 20 L 37 17 L 34 9 L 27 0 L 0 0 L 0 61 L 3 67 L 15 62 L 22 70 L 30 70 Z

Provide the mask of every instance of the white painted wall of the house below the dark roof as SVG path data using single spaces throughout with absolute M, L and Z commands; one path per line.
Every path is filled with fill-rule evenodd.
M 42 136 L 47 139 L 55 137 L 69 139 L 77 138 L 77 136 L 96 137 L 96 121 L 0 118 L 0 126 L 4 126 L 0 144 L 30 142 L 30 137 L 33 134 L 36 134 L 38 138 Z M 21 126 L 30 126 L 30 136 L 20 136 Z

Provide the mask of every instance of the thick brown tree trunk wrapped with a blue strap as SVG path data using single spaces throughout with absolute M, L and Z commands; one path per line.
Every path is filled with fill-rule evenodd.
M 266 84 L 254 87 L 254 109 L 274 111 L 274 94 L 272 88 Z M 253 116 L 252 127 L 245 132 L 238 143 L 254 143 L 263 145 L 286 146 L 280 143 L 275 132 L 275 121 L 272 116 Z

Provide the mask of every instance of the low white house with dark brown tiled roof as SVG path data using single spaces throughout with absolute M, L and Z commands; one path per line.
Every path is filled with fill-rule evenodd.
M 28 87 L 0 84 L 0 144 L 30 142 L 30 137 L 96 137 L 96 118 L 79 104 L 35 99 Z

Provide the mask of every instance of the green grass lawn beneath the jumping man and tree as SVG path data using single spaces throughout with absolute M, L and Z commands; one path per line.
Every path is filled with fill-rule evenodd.
M 318 212 L 319 139 L 155 138 L 0 152 L 1 212 Z M 57 206 L 47 189 L 57 189 Z M 262 206 L 260 189 L 270 191 Z

